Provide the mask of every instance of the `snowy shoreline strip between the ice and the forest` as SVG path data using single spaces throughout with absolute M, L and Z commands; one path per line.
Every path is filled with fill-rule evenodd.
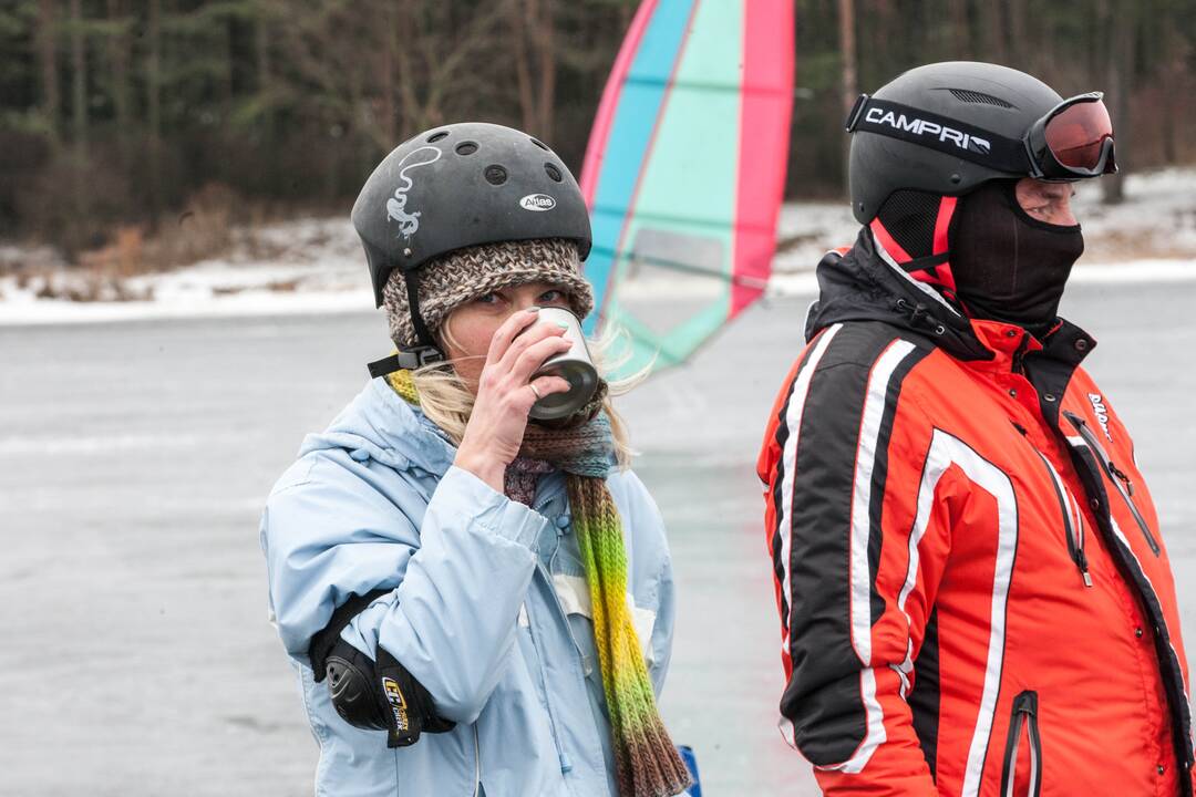
M 1094 182 L 1076 188 L 1075 209 L 1087 251 L 1073 278 L 1093 282 L 1196 280 L 1196 168 L 1130 174 L 1127 201 L 1100 204 Z M 777 223 L 779 251 L 769 293 L 811 294 L 813 266 L 834 246 L 849 245 L 858 225 L 846 202 L 792 202 Z M 348 217 L 270 225 L 240 235 L 246 243 L 220 259 L 124 281 L 147 301 L 75 302 L 38 299 L 42 278 L 20 287 L 0 277 L 0 324 L 59 324 L 139 318 L 354 312 L 373 307 L 365 257 Z M 44 247 L 0 246 L 0 264 L 53 262 Z M 60 272 L 59 286 L 83 282 Z M 676 289 L 676 283 L 671 283 Z M 648 289 L 645 281 L 645 289 Z M 653 290 L 652 295 L 659 295 Z

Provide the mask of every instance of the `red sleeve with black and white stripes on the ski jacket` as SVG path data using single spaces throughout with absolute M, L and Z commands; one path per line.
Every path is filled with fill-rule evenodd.
M 938 793 L 914 692 L 936 656 L 922 645 L 947 519 L 922 484 L 933 429 L 902 390 L 925 356 L 887 335 L 824 331 L 791 372 L 759 455 L 781 728 L 831 797 Z

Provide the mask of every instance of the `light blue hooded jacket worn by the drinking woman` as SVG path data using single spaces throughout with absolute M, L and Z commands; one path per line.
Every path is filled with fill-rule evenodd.
M 309 435 L 262 516 L 270 612 L 335 797 L 616 795 L 585 576 L 560 472 L 533 509 L 452 466 L 456 449 L 383 379 Z M 628 553 L 628 600 L 659 693 L 673 631 L 664 525 L 630 472 L 608 479 Z M 315 683 L 307 645 L 350 594 L 385 588 L 342 632 L 382 644 L 457 723 L 388 749 Z

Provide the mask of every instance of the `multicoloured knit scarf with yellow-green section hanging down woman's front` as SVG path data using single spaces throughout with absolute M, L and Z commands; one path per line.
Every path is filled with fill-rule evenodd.
M 388 381 L 408 403 L 419 404 L 410 372 Z M 530 503 L 539 473 L 559 467 L 593 605 L 594 646 L 602 673 L 615 750 L 620 797 L 670 797 L 689 787 L 689 771 L 657 711 L 652 681 L 627 602 L 627 550 L 615 499 L 606 489 L 612 441 L 600 398 L 578 422 L 548 429 L 529 424 L 519 456 L 507 468 L 506 492 Z

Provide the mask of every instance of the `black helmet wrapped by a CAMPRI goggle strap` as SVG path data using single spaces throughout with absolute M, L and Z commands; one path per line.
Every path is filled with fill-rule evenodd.
M 852 211 L 866 225 L 901 190 L 960 196 L 993 179 L 1116 171 L 1111 125 L 1088 142 L 1094 149 L 1084 167 L 1061 165 L 1043 140 L 1048 123 L 1070 105 L 1099 102 L 1097 92 L 1063 102 L 1037 78 L 995 63 L 910 69 L 875 94 L 861 94 L 848 117 Z

